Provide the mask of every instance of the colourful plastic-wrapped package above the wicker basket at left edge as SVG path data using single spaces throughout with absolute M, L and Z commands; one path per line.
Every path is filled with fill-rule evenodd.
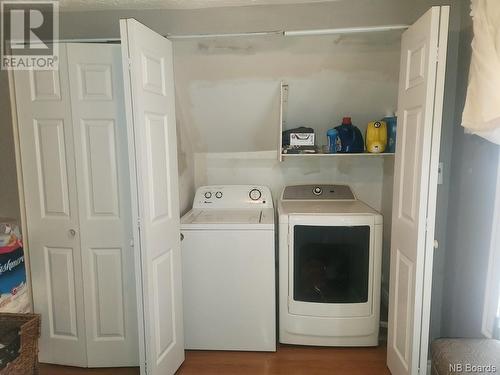
M 0 312 L 30 311 L 19 226 L 0 219 Z

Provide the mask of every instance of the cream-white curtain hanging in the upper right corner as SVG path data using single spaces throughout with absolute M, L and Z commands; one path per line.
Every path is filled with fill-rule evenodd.
M 500 0 L 471 0 L 472 58 L 462 126 L 500 144 Z

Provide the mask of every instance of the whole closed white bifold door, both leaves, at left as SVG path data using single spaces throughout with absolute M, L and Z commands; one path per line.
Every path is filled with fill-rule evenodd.
M 121 49 L 14 75 L 40 361 L 139 364 Z

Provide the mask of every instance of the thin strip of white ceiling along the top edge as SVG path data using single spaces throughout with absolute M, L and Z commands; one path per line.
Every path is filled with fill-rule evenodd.
M 105 9 L 200 9 L 246 5 L 319 3 L 339 0 L 60 0 L 63 11 Z

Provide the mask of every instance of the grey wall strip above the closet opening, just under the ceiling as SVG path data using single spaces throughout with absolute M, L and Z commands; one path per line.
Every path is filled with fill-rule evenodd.
M 260 5 L 199 10 L 110 10 L 68 12 L 65 38 L 118 37 L 120 18 L 133 17 L 159 33 L 233 33 L 411 23 L 429 0 L 341 0 L 296 5 Z M 436 2 L 436 1 L 434 1 Z M 440 3 L 453 2 L 453 0 Z

